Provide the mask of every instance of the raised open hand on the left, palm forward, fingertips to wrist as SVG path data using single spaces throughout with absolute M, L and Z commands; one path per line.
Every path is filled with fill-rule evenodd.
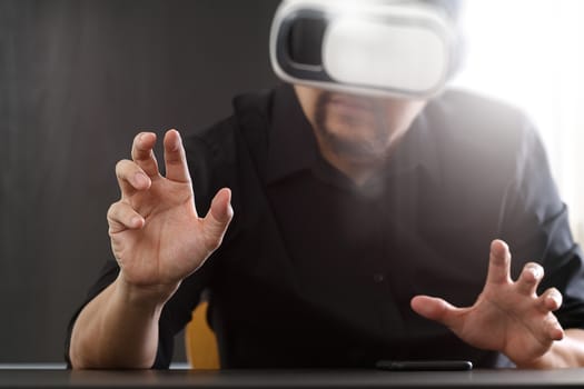
M 165 134 L 166 177 L 158 170 L 155 143 L 155 133 L 139 133 L 132 160 L 116 166 L 121 199 L 111 205 L 108 223 L 119 280 L 162 302 L 219 247 L 234 211 L 224 188 L 199 218 L 180 134 Z

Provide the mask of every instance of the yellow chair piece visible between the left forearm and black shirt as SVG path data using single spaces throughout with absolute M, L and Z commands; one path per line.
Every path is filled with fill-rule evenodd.
M 219 351 L 215 332 L 207 323 L 209 303 L 201 301 L 192 311 L 192 319 L 185 328 L 185 350 L 194 369 L 219 369 Z

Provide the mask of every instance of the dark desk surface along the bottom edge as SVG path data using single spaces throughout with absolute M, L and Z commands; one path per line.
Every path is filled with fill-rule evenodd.
M 584 388 L 584 369 L 394 372 L 379 370 L 0 370 L 0 388 Z

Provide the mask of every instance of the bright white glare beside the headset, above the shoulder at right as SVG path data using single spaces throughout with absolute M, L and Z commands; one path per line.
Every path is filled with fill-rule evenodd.
M 467 0 L 454 84 L 522 108 L 537 126 L 584 242 L 584 1 Z

